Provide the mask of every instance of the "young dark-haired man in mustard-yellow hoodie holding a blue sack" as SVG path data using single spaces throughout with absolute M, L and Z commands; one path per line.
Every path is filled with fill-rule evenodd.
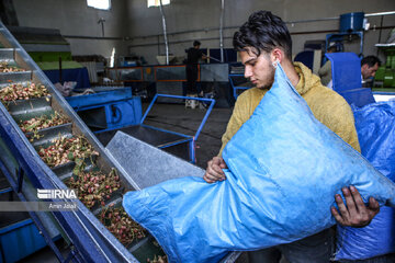
M 226 180 L 222 169 L 227 168 L 222 151 L 241 125 L 249 119 L 255 108 L 274 81 L 275 66 L 284 69 L 296 91 L 306 100 L 315 117 L 360 151 L 354 119 L 349 104 L 338 93 L 325 88 L 317 76 L 301 62 L 292 62 L 292 41 L 285 23 L 269 11 L 253 13 L 234 35 L 234 47 L 245 65 L 245 77 L 255 88 L 241 93 L 228 122 L 223 145 L 217 157 L 207 162 L 204 180 L 207 183 Z M 336 176 L 336 174 L 334 174 Z M 323 182 L 325 183 L 325 182 Z M 331 208 L 336 220 L 343 226 L 369 225 L 380 206 L 370 198 L 365 206 L 356 187 L 343 187 L 346 204 L 340 195 L 335 196 L 339 207 Z M 302 205 L 302 204 L 301 204 Z M 328 211 L 329 213 L 329 211 Z M 281 244 L 249 252 L 249 262 L 278 263 L 283 254 L 291 263 L 329 262 L 332 254 L 332 228 L 289 244 Z

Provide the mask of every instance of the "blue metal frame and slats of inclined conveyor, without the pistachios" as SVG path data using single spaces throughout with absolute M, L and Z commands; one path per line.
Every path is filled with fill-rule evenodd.
M 98 216 L 103 209 L 120 206 L 124 192 L 144 186 L 134 180 L 134 174 L 126 172 L 108 149 L 103 148 L 2 23 L 0 23 L 0 60 L 24 69 L 18 72 L 0 72 L 0 88 L 5 89 L 16 83 L 29 85 L 33 82 L 37 85 L 43 84 L 48 91 L 45 96 L 31 96 L 24 98 L 25 100 L 0 103 L 0 171 L 18 198 L 22 202 L 34 202 L 38 201 L 37 188 L 68 188 L 68 180 L 76 176 L 74 169 L 77 161 L 68 161 L 50 168 L 37 153 L 41 148 L 53 146 L 54 139 L 60 137 L 72 140 L 82 136 L 93 147 L 95 153 L 84 160 L 84 172 L 101 171 L 109 176 L 112 171 L 115 171 L 120 178 L 120 191 L 106 198 L 103 206 L 88 208 L 81 201 L 72 199 L 77 203 L 75 210 L 27 211 L 57 259 L 60 262 L 146 262 L 147 259 L 153 260 L 155 255 L 162 253 L 149 233 L 143 239 L 124 245 L 99 220 Z M 35 134 L 36 136 L 30 138 L 18 125 L 21 121 L 50 115 L 55 111 L 64 115 L 68 122 L 43 128 Z M 138 146 L 140 142 L 137 140 L 136 144 Z M 157 165 L 161 164 L 157 163 Z M 188 174 L 188 171 L 184 173 Z M 143 182 L 144 175 L 147 174 L 143 174 Z M 150 175 L 156 176 L 156 174 Z M 48 201 L 71 203 L 71 199 L 60 197 Z M 69 244 L 66 256 L 55 244 L 55 240 L 59 237 Z M 235 258 L 237 258 L 235 253 L 230 253 L 223 262 L 234 262 Z

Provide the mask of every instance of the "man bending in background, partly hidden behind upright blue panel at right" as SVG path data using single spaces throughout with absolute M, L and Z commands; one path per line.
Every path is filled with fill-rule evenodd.
M 362 87 L 364 83 L 375 76 L 381 61 L 375 56 L 368 56 L 362 58 L 361 60 L 361 82 Z M 321 78 L 323 85 L 332 89 L 332 79 L 331 79 L 331 64 L 330 60 L 326 61 L 326 64 L 318 70 L 318 75 Z

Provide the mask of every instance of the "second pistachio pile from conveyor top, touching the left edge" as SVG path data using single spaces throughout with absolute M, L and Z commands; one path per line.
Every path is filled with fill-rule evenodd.
M 44 84 L 22 84 L 14 83 L 0 90 L 0 100 L 2 102 L 12 102 L 18 100 L 30 100 L 48 95 L 48 90 Z

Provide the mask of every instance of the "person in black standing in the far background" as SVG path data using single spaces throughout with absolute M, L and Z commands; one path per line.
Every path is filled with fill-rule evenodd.
M 187 50 L 187 95 L 203 96 L 203 91 L 196 85 L 198 80 L 198 62 L 200 59 L 206 59 L 206 56 L 200 50 L 201 43 L 193 42 L 193 47 Z

